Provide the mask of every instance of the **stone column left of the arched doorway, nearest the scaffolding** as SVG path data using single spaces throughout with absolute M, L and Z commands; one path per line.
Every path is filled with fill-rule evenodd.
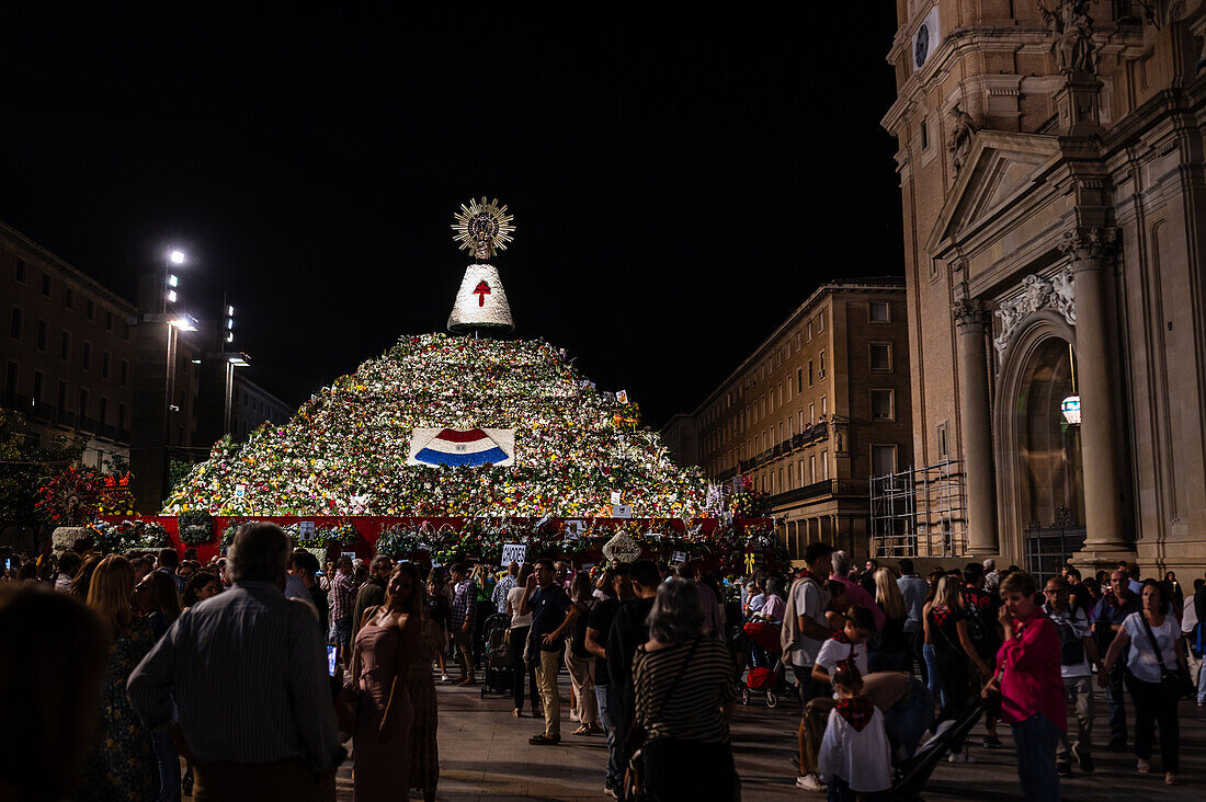
M 1000 552 L 996 538 L 996 469 L 988 406 L 988 306 L 965 299 L 954 306 L 959 330 L 959 414 L 967 497 L 967 554 Z

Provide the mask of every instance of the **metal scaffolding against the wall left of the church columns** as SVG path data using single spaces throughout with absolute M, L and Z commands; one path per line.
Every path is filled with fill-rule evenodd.
M 952 557 L 967 546 L 964 473 L 958 459 L 871 479 L 871 554 Z

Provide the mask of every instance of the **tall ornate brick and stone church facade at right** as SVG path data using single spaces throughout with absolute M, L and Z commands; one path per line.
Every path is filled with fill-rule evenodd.
M 961 464 L 964 554 L 1200 570 L 1206 4 L 896 12 L 914 452 Z

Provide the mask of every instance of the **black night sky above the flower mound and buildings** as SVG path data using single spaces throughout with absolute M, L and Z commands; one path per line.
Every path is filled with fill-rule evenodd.
M 182 247 L 186 308 L 230 293 L 251 377 L 291 402 L 444 329 L 469 262 L 449 226 L 473 195 L 515 213 L 494 263 L 517 334 L 655 426 L 818 282 L 902 269 L 888 4 L 556 33 L 468 10 L 425 29 L 369 8 L 7 5 L 0 218 L 131 299 Z

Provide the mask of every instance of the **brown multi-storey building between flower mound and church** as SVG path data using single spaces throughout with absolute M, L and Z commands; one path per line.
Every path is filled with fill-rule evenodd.
M 816 539 L 865 554 L 868 479 L 912 463 L 907 332 L 901 280 L 826 283 L 672 418 L 668 447 L 769 496 L 795 557 Z

